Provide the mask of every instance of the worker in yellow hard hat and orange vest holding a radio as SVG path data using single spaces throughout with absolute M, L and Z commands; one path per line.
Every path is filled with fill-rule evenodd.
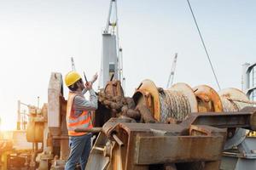
M 69 94 L 67 99 L 67 131 L 69 136 L 70 154 L 67 159 L 65 170 L 74 170 L 77 163 L 80 163 L 82 170 L 85 169 L 90 155 L 91 133 L 77 133 L 74 130 L 78 127 L 91 128 L 91 111 L 97 109 L 97 97 L 92 89 L 92 83 L 97 79 L 94 75 L 92 81 L 84 84 L 79 73 L 70 71 L 65 77 Z M 84 86 L 85 85 L 85 86 Z M 84 98 L 89 91 L 90 100 Z

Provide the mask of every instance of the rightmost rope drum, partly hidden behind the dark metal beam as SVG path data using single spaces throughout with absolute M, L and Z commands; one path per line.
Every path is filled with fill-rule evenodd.
M 218 92 L 222 101 L 223 109 L 225 112 L 229 111 L 240 111 L 243 107 L 248 106 L 247 103 L 241 103 L 232 99 L 241 99 L 247 101 L 247 95 L 236 88 L 225 88 Z M 229 150 L 246 138 L 248 131 L 243 128 L 230 129 L 228 132 L 228 139 L 225 142 L 224 150 Z

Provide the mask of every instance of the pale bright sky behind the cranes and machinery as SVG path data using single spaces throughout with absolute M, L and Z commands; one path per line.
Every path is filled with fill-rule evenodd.
M 221 88 L 241 88 L 241 65 L 256 62 L 256 2 L 190 3 Z M 47 103 L 50 73 L 65 77 L 70 57 L 87 77 L 100 71 L 108 6 L 108 0 L 0 0 L 3 129 L 15 128 L 18 99 L 37 105 L 39 96 L 40 105 Z M 146 78 L 166 88 L 175 53 L 174 82 L 218 90 L 186 0 L 119 0 L 118 14 L 126 95 Z

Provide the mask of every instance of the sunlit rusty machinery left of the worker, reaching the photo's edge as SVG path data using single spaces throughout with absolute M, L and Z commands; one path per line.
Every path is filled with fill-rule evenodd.
M 0 152 L 5 163 L 3 168 L 0 166 L 1 170 L 64 169 L 69 148 L 66 126 L 67 101 L 63 97 L 62 86 L 61 74 L 52 73 L 48 87 L 48 104 L 38 108 L 18 102 L 17 127 L 23 129 L 23 125 L 26 125 L 26 129 L 12 132 L 15 134 L 10 141 L 14 144 L 11 143 L 12 147 L 9 150 Z M 26 114 L 29 117 L 28 122 L 20 121 L 20 105 L 26 105 L 29 109 Z M 0 139 L 0 143 L 2 141 Z M 29 144 L 28 147 L 24 146 L 25 143 Z M 1 143 L 1 147 L 3 144 Z

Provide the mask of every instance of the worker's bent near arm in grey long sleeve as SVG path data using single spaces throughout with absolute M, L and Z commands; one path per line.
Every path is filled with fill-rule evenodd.
M 97 96 L 93 89 L 89 90 L 90 100 L 82 96 L 76 96 L 74 99 L 74 109 L 77 111 L 95 111 L 98 108 Z

